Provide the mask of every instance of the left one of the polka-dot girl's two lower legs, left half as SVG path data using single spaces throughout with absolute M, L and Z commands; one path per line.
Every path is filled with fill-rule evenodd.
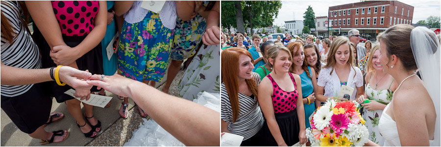
M 66 106 L 69 110 L 69 113 L 71 113 L 71 115 L 73 116 L 73 118 L 76 120 L 76 123 L 79 124 L 81 132 L 83 133 L 87 133 L 90 132 L 92 130 L 92 127 L 86 123 L 86 121 L 84 121 L 83 119 L 83 114 L 81 113 L 81 105 L 80 105 L 81 101 L 79 101 L 78 99 L 70 99 L 70 100 L 66 100 Z M 91 137 L 94 137 L 97 135 L 97 132 L 94 132 L 93 135 Z

